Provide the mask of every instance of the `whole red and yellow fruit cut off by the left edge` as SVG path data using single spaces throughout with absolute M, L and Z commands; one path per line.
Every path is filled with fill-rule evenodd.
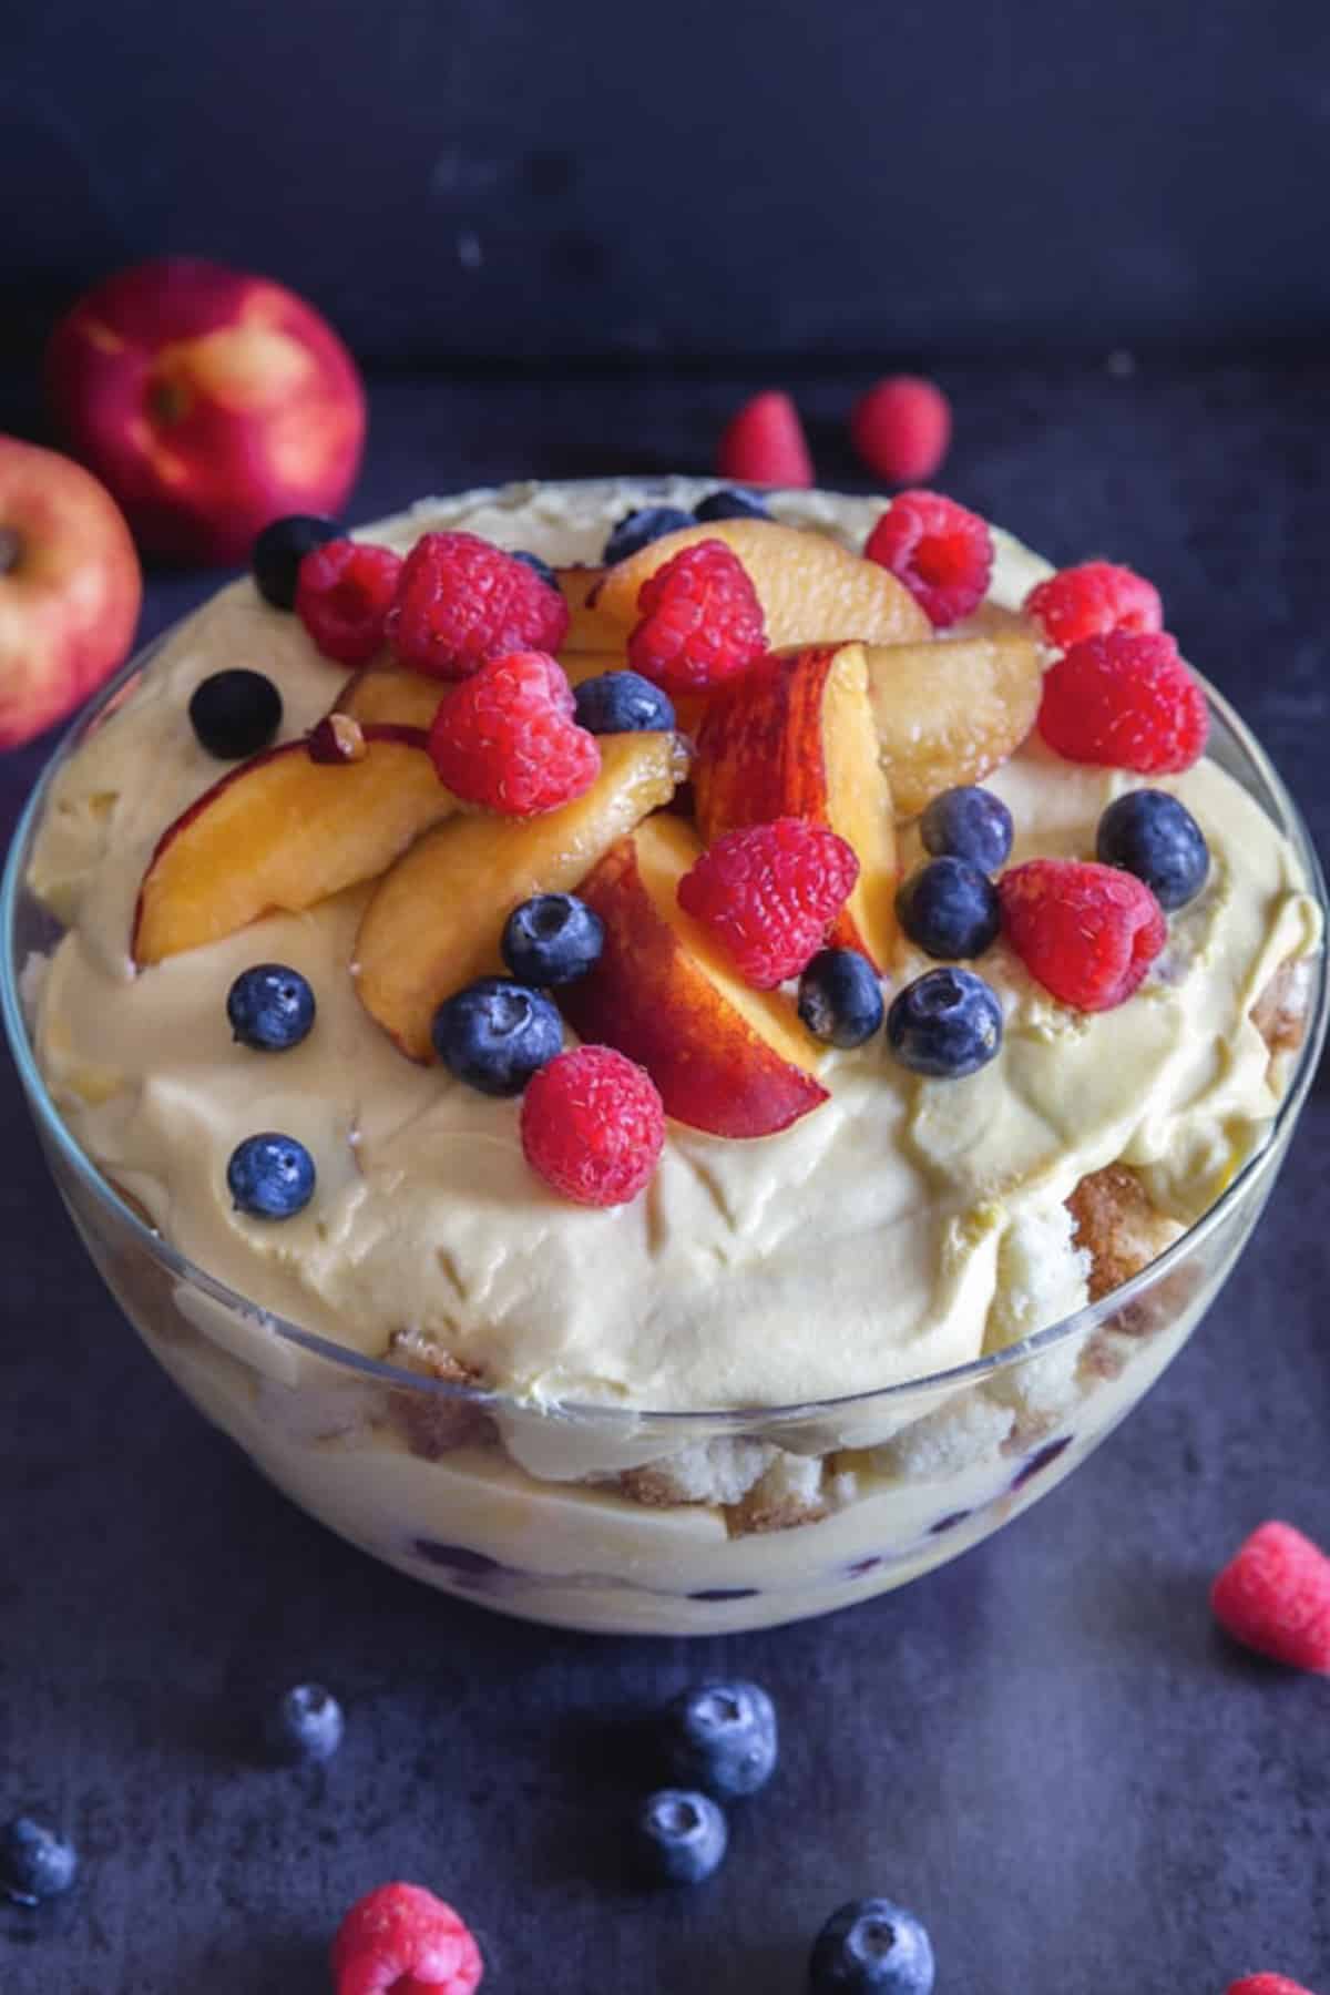
M 112 495 L 72 459 L 0 437 L 0 748 L 62 720 L 116 670 L 142 595 Z

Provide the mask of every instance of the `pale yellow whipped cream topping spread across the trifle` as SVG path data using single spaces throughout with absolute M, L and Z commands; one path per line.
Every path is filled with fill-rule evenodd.
M 710 489 L 520 485 L 427 501 L 365 537 L 405 551 L 467 527 L 556 565 L 594 563 L 632 505 Z M 806 493 L 774 511 L 859 549 L 881 505 Z M 1003 533 L 995 543 L 987 614 L 1015 612 L 1049 569 Z M 68 924 L 38 986 L 38 1057 L 62 1113 L 181 1253 L 261 1309 L 369 1355 L 425 1333 L 536 1406 L 835 1398 L 967 1363 L 1081 1307 L 1085 1257 L 1061 1201 L 1087 1171 L 1139 1167 L 1186 1223 L 1268 1129 L 1284 1073 L 1248 1013 L 1278 964 L 1318 948 L 1318 912 L 1274 824 L 1200 762 L 1159 786 L 1198 818 L 1210 880 L 1129 1003 L 1069 1011 L 999 942 L 977 968 L 999 992 L 1005 1043 L 981 1073 L 917 1079 L 879 1035 L 828 1053 L 831 1099 L 790 1131 L 732 1143 L 672 1123 L 636 1203 L 564 1203 L 522 1159 L 514 1101 L 413 1065 L 361 1009 L 349 964 L 369 888 L 136 974 L 148 858 L 221 772 L 193 736 L 189 694 L 241 664 L 279 684 L 281 738 L 347 676 L 249 581 L 221 591 L 62 772 L 32 878 Z M 987 780 L 1011 806 L 1015 862 L 1093 856 L 1105 804 L 1135 778 L 1031 742 Z M 235 1045 L 225 1017 L 231 980 L 267 960 L 301 970 L 319 1005 L 311 1037 L 281 1055 Z M 893 984 L 925 968 L 901 960 Z M 299 1137 L 317 1163 L 315 1199 L 291 1221 L 231 1209 L 227 1157 L 255 1129 Z

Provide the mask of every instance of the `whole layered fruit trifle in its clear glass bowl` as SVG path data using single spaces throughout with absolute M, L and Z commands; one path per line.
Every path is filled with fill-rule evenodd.
M 933 493 L 281 521 L 24 850 L 76 1219 L 443 1588 L 710 1632 L 899 1584 L 1121 1418 L 1264 1201 L 1320 908 L 1234 728 L 1149 583 Z

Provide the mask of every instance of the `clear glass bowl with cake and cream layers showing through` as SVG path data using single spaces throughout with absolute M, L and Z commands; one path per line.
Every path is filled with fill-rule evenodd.
M 1111 1219 L 1085 1307 L 967 1363 L 869 1391 L 780 1404 L 652 1404 L 532 1395 L 453 1363 L 405 1327 L 383 1351 L 329 1335 L 185 1255 L 98 1163 L 40 1059 L 44 966 L 64 926 L 32 888 L 32 854 L 64 772 L 169 658 L 136 658 L 62 742 L 4 872 L 2 1001 L 14 1059 L 60 1193 L 154 1357 L 311 1516 L 443 1592 L 592 1632 L 716 1634 L 831 1612 L 917 1578 L 1051 1490 L 1135 1406 L 1218 1295 L 1256 1225 L 1326 1031 L 1324 952 L 1262 1019 L 1270 1113 L 1190 1223 L 1137 1209 L 1115 1165 L 1073 1195 L 1085 1239 Z M 1306 896 L 1326 896 L 1306 828 L 1258 742 L 1206 688 L 1208 756 L 1288 842 Z M 269 954 L 255 950 L 253 954 Z M 259 1067 L 267 1083 L 271 1065 Z M 68 1079 L 68 1077 L 66 1077 Z M 90 1075 L 88 1085 L 98 1087 Z M 64 1095 L 64 1099 L 62 1099 Z M 263 1121 L 265 1117 L 259 1117 Z M 740 1145 L 742 1147 L 742 1145 Z M 1196 1159 L 1214 1169 L 1212 1159 Z M 1079 1201 L 1079 1203 L 1077 1203 Z M 1065 1245 L 1065 1243 L 1063 1243 Z M 810 1237 L 810 1263 L 824 1249 Z M 1039 1239 L 1013 1281 L 1039 1289 Z M 722 1275 L 718 1273 L 718 1281 Z M 831 1309 L 828 1287 L 828 1309 Z M 606 1307 L 614 1307 L 612 1299 Z M 814 1335 L 816 1335 L 814 1327 Z

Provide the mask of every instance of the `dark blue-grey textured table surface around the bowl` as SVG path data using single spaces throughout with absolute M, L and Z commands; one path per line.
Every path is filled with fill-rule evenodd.
M 387 383 L 357 513 L 704 465 L 750 385 Z M 828 483 L 853 477 L 853 385 L 804 393 Z M 1055 559 L 1153 575 L 1324 850 L 1330 369 L 947 385 L 957 497 Z M 146 634 L 209 587 L 154 581 Z M 6 830 L 36 764 L 0 766 Z M 1063 1488 L 899 1594 L 702 1644 L 504 1622 L 307 1522 L 120 1321 L 8 1067 L 0 1109 L 0 1811 L 84 1853 L 48 1915 L 0 1911 L 4 1995 L 319 1995 L 341 1911 L 393 1875 L 465 1909 L 495 1995 L 800 1995 L 826 1911 L 877 1889 L 927 1919 L 939 1995 L 1222 1995 L 1256 1967 L 1330 1989 L 1330 1684 L 1244 1660 L 1206 1614 L 1260 1518 L 1330 1542 L 1324 1085 L 1190 1351 Z M 772 1688 L 782 1770 L 714 1883 L 646 1897 L 618 1859 L 632 1722 L 704 1670 Z M 347 1744 L 275 1772 L 257 1714 L 311 1676 Z

